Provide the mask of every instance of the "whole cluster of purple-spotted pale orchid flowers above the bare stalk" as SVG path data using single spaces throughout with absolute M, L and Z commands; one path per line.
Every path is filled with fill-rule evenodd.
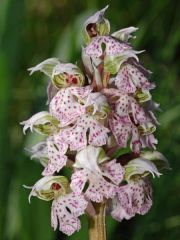
M 110 34 L 106 9 L 84 24 L 83 70 L 57 58 L 29 69 L 50 78 L 49 111 L 21 123 L 24 133 L 30 128 L 45 136 L 30 149 L 44 170 L 29 200 L 52 200 L 51 225 L 67 235 L 80 229 L 80 215 L 96 214 L 94 202 L 105 203 L 118 221 L 144 215 L 152 206 L 149 175 L 159 177 L 168 168 L 155 151 L 155 84 L 139 63 L 142 51 L 129 43 L 137 28 Z M 59 175 L 64 167 L 70 179 Z

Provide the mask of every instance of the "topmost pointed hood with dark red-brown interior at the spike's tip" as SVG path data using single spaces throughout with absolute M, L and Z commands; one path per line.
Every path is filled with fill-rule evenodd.
M 104 18 L 104 13 L 108 6 L 96 12 L 94 15 L 89 17 L 84 23 L 84 40 L 85 43 L 89 43 L 91 38 L 98 35 L 107 35 L 110 32 L 110 23 Z

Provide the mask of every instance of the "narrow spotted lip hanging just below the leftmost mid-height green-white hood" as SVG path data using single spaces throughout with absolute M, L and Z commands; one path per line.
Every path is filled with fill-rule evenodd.
M 68 145 L 66 143 L 59 144 L 54 141 L 53 137 L 47 140 L 49 161 L 42 175 L 52 175 L 54 172 L 59 172 L 67 162 L 67 156 L 64 155 Z

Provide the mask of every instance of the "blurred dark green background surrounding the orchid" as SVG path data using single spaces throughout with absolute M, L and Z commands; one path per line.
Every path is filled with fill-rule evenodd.
M 47 79 L 27 68 L 49 57 L 80 62 L 84 19 L 110 4 L 112 31 L 139 27 L 133 46 L 146 49 L 140 59 L 152 72 L 161 103 L 158 150 L 172 171 L 153 181 L 154 204 L 145 216 L 115 222 L 107 218 L 108 240 L 180 239 L 180 1 L 175 0 L 0 0 L 0 239 L 60 240 L 50 227 L 50 203 L 32 199 L 29 190 L 42 167 L 24 148 L 38 141 L 23 136 L 19 122 L 45 110 Z M 88 239 L 87 221 L 70 240 Z

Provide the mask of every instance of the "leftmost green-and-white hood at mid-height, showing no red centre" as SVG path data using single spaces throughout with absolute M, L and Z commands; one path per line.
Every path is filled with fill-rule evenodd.
M 58 130 L 59 121 L 49 112 L 43 111 L 33 115 L 30 119 L 20 124 L 24 125 L 24 134 L 26 134 L 27 129 L 30 128 L 31 132 L 35 130 L 37 133 L 48 135 Z

